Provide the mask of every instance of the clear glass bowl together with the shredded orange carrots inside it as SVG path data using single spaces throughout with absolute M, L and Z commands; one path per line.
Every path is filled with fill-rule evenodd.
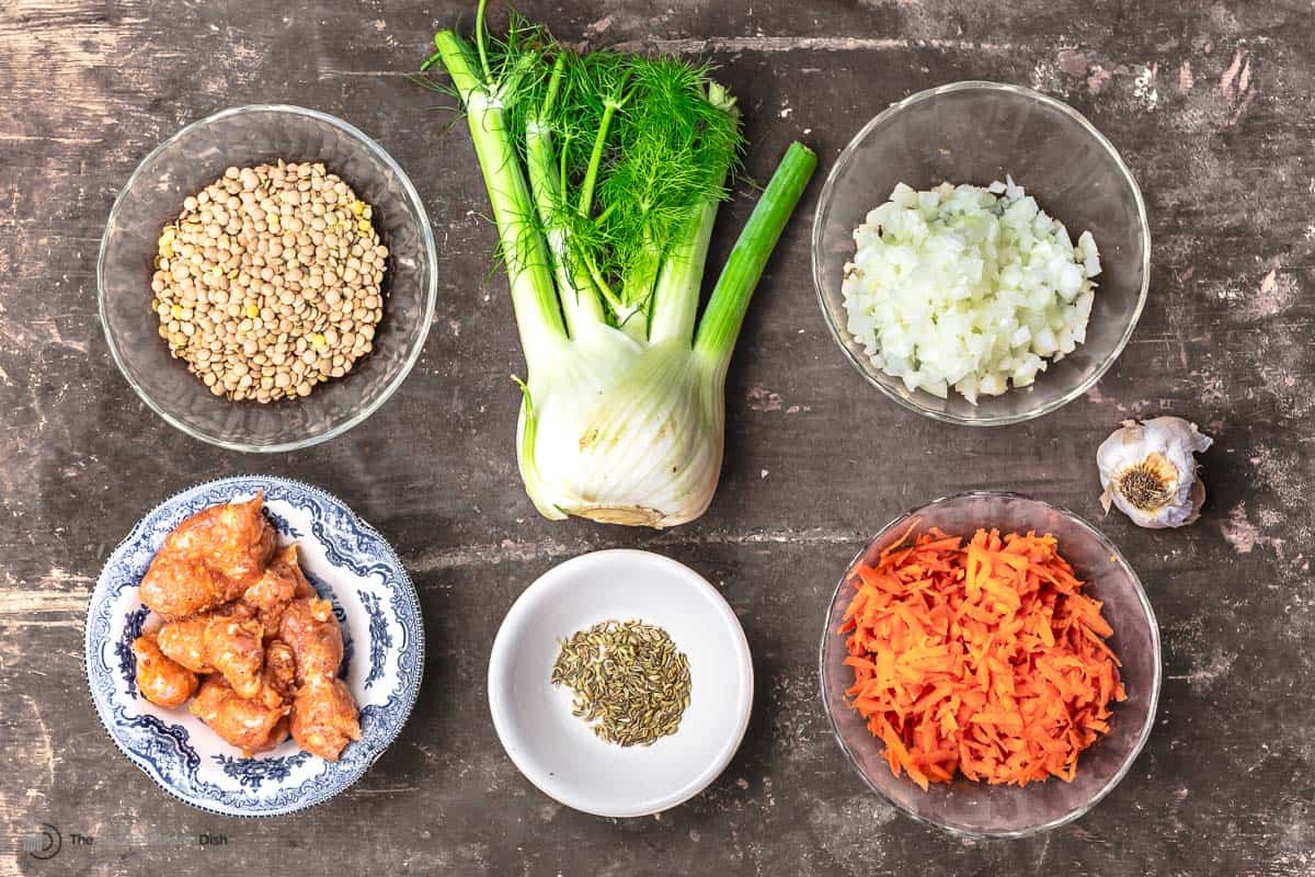
M 1077 515 L 965 493 L 901 515 L 827 613 L 822 697 L 868 785 L 952 832 L 1077 819 L 1155 722 L 1160 634 L 1141 582 Z

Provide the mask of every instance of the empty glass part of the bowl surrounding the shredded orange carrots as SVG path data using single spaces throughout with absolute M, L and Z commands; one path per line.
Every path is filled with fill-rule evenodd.
M 923 792 L 907 776 L 894 776 L 881 756 L 884 744 L 846 702 L 853 671 L 844 665 L 846 639 L 836 631 L 853 597 L 849 584 L 861 560 L 874 560 L 917 522 L 914 533 L 939 527 L 972 535 L 978 527 L 1048 533 L 1086 582 L 1086 593 L 1105 604 L 1114 628 L 1110 647 L 1123 661 L 1128 699 L 1114 706 L 1110 732 L 1078 759 L 1073 782 L 1056 778 L 1026 788 L 993 786 L 963 777 Z M 974 838 L 1022 838 L 1077 819 L 1119 784 L 1155 724 L 1160 697 L 1160 628 L 1141 582 L 1109 539 L 1076 514 L 1013 493 L 963 493 L 899 515 L 868 543 L 840 579 L 827 609 L 821 648 L 822 699 L 840 748 L 864 781 L 893 805 L 922 822 Z

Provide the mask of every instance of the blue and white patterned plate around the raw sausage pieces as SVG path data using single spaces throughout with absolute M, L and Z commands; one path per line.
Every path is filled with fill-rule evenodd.
M 342 676 L 360 707 L 362 739 L 339 761 L 301 752 L 288 740 L 247 759 L 187 707 L 141 697 L 129 648 L 149 614 L 137 585 L 151 559 L 188 515 L 264 490 L 280 544 L 296 542 L 306 577 L 333 601 L 346 644 Z M 114 550 L 87 613 L 87 681 L 118 748 L 166 790 L 203 810 L 272 817 L 338 794 L 383 755 L 416 705 L 425 665 L 419 602 L 392 547 L 338 498 L 287 479 L 209 481 L 162 502 Z

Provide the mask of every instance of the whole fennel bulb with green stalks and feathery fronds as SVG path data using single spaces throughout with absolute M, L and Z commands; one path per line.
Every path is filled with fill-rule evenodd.
M 527 376 L 521 476 L 548 518 L 668 527 L 721 473 L 725 385 L 753 288 L 817 156 L 792 145 L 696 327 L 718 202 L 743 145 L 706 70 L 571 55 L 513 22 L 435 36 L 498 226 Z

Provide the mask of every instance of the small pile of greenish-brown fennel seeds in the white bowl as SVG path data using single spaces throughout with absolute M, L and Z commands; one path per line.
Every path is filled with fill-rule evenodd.
M 618 746 L 675 734 L 689 706 L 689 659 L 661 627 L 635 619 L 600 622 L 563 640 L 551 681 L 571 688 L 572 715 Z

